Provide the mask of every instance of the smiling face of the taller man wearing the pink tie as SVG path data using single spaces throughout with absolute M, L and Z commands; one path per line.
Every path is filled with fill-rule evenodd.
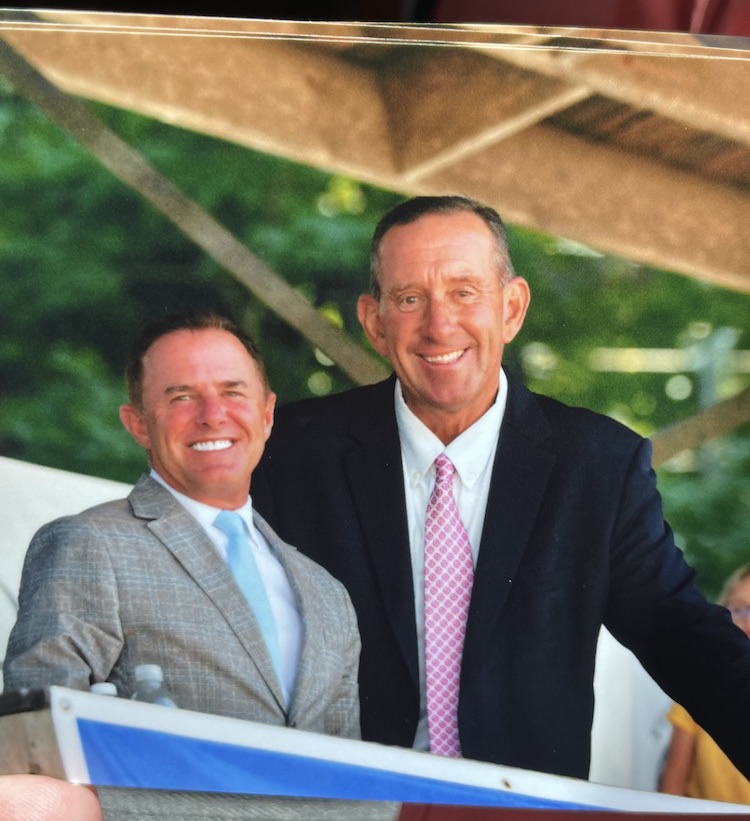
M 413 413 L 443 442 L 490 407 L 503 348 L 523 323 L 526 281 L 503 275 L 480 217 L 428 214 L 385 234 L 381 298 L 360 298 L 370 342 L 390 359 Z

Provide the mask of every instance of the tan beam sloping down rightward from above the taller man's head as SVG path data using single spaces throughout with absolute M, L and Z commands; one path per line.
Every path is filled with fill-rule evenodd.
M 505 140 L 420 189 L 475 196 L 510 223 L 750 292 L 750 196 L 553 128 Z

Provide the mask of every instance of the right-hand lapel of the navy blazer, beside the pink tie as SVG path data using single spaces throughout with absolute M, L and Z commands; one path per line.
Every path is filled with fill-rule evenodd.
M 465 656 L 472 658 L 495 632 L 555 461 L 543 447 L 550 428 L 536 400 L 509 382 L 466 630 Z

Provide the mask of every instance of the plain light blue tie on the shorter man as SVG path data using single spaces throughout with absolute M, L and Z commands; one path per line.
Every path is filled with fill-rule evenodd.
M 276 675 L 281 680 L 281 652 L 279 637 L 276 633 L 276 622 L 268 601 L 263 579 L 255 562 L 250 540 L 245 530 L 245 523 L 239 513 L 222 510 L 214 520 L 216 527 L 227 536 L 227 564 L 240 586 L 255 618 L 260 625 L 263 639 L 271 656 Z

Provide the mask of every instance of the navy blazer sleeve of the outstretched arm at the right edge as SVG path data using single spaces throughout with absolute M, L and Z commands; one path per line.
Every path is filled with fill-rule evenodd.
M 750 777 L 738 732 L 750 726 L 750 641 L 699 593 L 664 522 L 647 441 L 625 478 L 610 561 L 607 627 Z

